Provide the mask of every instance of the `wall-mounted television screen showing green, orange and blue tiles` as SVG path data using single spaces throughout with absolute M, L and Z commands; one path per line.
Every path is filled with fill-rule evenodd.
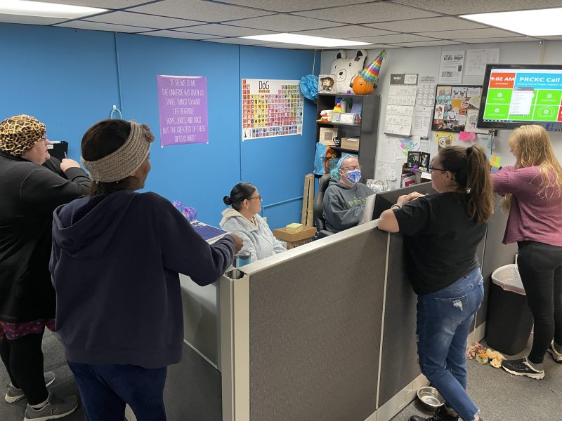
M 562 121 L 562 65 L 486 65 L 479 128 Z

